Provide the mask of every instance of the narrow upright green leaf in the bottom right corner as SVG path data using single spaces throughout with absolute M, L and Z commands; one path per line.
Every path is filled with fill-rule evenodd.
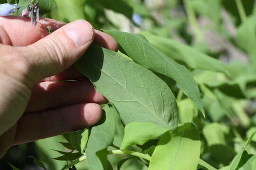
M 246 144 L 244 145 L 243 149 L 238 153 L 238 155 L 235 156 L 235 158 L 232 160 L 230 164 L 230 170 L 237 170 L 239 168 L 240 162 L 243 161 L 243 156 L 246 156 L 247 153 L 245 153 L 246 148 L 248 144 L 252 141 L 253 137 L 255 136 L 256 132 L 253 133 L 246 141 Z

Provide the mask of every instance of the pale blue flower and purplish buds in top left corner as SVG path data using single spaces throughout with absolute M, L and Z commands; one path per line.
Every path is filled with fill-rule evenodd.
M 21 15 L 23 17 L 30 17 L 32 25 L 36 26 L 37 20 L 40 20 L 40 18 L 41 18 L 38 1 L 39 0 L 28 0 L 27 4 L 24 6 L 19 6 L 17 3 L 16 4 L 9 4 L 9 3 L 1 4 L 0 5 L 0 16 L 8 16 L 12 12 L 16 12 L 16 11 L 18 13 L 18 10 L 20 8 L 27 6 L 27 8 L 21 12 Z

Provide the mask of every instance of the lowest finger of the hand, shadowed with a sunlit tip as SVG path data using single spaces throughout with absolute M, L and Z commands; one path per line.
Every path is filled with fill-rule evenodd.
M 31 142 L 92 126 L 101 119 L 101 114 L 101 107 L 95 103 L 26 114 L 18 121 L 14 144 Z

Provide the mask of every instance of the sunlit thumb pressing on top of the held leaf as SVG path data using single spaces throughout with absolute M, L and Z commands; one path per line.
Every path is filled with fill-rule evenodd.
M 45 38 L 22 48 L 29 66 L 29 78 L 37 83 L 70 67 L 88 49 L 94 29 L 85 20 L 77 20 L 57 29 Z

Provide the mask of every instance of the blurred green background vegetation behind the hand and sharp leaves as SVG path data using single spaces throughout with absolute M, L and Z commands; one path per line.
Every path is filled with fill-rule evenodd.
M 200 87 L 205 119 L 174 82 L 168 85 L 177 99 L 179 123 L 193 122 L 200 130 L 201 159 L 216 169 L 229 170 L 231 161 L 242 152 L 243 159 L 237 169 L 254 170 L 256 136 L 247 145 L 246 141 L 256 132 L 255 0 L 56 2 L 57 8 L 46 17 L 64 22 L 86 19 L 97 29 L 142 33 L 157 49 L 188 68 Z M 116 135 L 118 144 L 123 129 L 117 129 Z M 13 146 L 0 159 L 0 169 L 8 170 L 8 161 L 22 170 L 39 170 L 33 159 L 27 158 L 33 155 L 50 170 L 59 170 L 66 162 L 51 159 L 60 156 L 51 149 L 66 149 L 58 142 L 66 142 L 65 137 Z M 115 166 L 124 158 L 109 156 Z M 86 170 L 86 161 L 76 168 Z M 136 159 L 121 166 L 121 170 L 144 169 L 145 165 Z M 198 169 L 211 170 L 200 166 Z

